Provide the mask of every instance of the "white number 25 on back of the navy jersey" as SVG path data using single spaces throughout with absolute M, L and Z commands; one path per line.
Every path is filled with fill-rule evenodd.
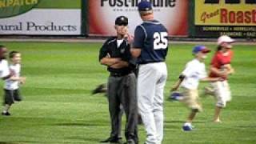
M 168 46 L 166 32 L 156 32 L 154 33 L 154 50 L 166 49 Z

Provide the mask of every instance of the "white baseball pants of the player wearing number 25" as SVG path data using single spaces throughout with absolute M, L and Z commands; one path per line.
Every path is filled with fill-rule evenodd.
M 163 138 L 163 91 L 166 85 L 165 62 L 139 66 L 138 112 L 146 129 L 146 143 L 160 144 Z

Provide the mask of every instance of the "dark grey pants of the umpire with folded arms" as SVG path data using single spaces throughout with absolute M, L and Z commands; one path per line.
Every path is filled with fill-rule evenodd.
M 110 137 L 119 136 L 119 131 L 122 126 L 122 110 L 120 108 L 122 105 L 126 114 L 126 139 L 132 138 L 135 142 L 138 142 L 138 106 L 136 89 L 136 78 L 133 73 L 125 76 L 109 77 L 107 95 L 111 118 Z

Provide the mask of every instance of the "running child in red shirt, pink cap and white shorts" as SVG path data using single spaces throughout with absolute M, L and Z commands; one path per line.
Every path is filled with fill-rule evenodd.
M 210 78 L 222 77 L 223 81 L 211 82 L 214 87 L 214 96 L 217 98 L 214 122 L 221 122 L 220 113 L 222 108 L 226 107 L 226 102 L 230 102 L 231 93 L 230 86 L 227 82 L 228 75 L 234 73 L 231 66 L 231 59 L 233 57 L 232 43 L 234 39 L 227 35 L 222 35 L 218 38 L 218 50 L 210 64 Z

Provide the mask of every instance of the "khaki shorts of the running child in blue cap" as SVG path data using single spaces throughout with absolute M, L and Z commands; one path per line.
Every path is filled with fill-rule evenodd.
M 198 90 L 189 90 L 184 87 L 181 88 L 181 93 L 184 96 L 182 102 L 185 103 L 190 109 L 200 112 L 202 111 L 202 106 L 199 102 Z

